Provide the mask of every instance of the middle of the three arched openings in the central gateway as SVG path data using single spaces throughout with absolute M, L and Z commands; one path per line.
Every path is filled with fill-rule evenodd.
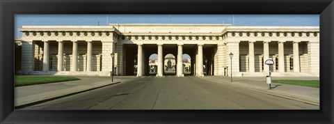
M 173 54 L 167 54 L 164 58 L 164 75 L 176 75 L 176 59 Z

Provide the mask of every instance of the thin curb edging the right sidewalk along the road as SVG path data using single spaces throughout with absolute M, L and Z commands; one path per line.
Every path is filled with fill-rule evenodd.
M 201 78 L 201 79 L 205 79 L 205 78 Z M 206 80 L 209 80 L 209 79 L 206 79 Z M 218 79 L 212 79 L 214 80 L 214 82 L 217 82 Z M 221 81 L 221 80 L 219 80 Z M 299 102 L 304 102 L 304 103 L 307 103 L 307 104 L 313 104 L 313 105 L 317 105 L 319 106 L 319 102 L 314 102 L 314 101 L 311 101 L 311 100 L 304 100 L 304 99 L 301 99 L 301 98 L 296 98 L 294 96 L 288 96 L 288 95 L 282 95 L 282 94 L 279 94 L 279 93 L 273 93 L 271 91 L 265 91 L 263 89 L 259 89 L 259 88 L 255 88 L 253 86 L 245 86 L 245 85 L 241 85 L 241 84 L 229 84 L 228 82 L 225 82 L 225 81 L 221 81 L 221 82 L 224 82 L 225 84 L 228 84 L 228 85 L 232 85 L 232 86 L 239 86 L 239 87 L 244 87 L 244 88 L 248 88 L 250 90 L 253 90 L 253 91 L 259 91 L 260 93 L 266 93 L 266 94 L 269 94 L 269 95 L 274 95 L 274 96 L 277 96 L 277 97 L 280 97 L 280 98 L 287 98 L 289 100 L 296 100 L 296 101 L 299 101 Z M 221 83 L 221 82 L 217 82 L 217 83 Z

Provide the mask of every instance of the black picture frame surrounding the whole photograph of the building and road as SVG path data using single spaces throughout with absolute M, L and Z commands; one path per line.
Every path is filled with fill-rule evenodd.
M 333 0 L 1 0 L 0 123 L 333 123 Z M 320 110 L 14 110 L 15 14 L 319 14 Z

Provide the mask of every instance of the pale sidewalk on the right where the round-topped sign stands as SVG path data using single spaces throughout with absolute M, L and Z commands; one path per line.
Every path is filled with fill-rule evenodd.
M 277 84 L 271 82 L 266 84 L 266 77 L 232 77 L 233 82 L 230 82 L 230 77 L 209 76 L 201 77 L 212 82 L 229 84 L 233 86 L 242 86 L 262 93 L 276 95 L 281 98 L 288 98 L 309 104 L 319 105 L 320 90 L 308 86 L 296 86 L 289 84 Z M 319 79 L 319 77 L 271 77 L 271 79 Z

